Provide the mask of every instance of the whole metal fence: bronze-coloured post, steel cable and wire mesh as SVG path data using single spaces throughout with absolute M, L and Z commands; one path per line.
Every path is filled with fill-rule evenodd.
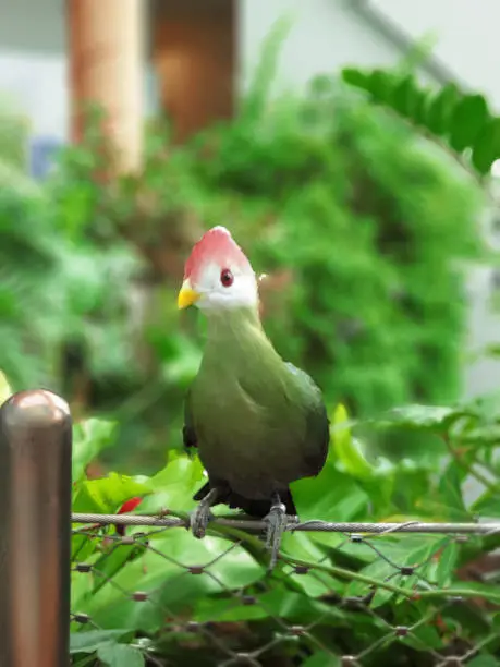
M 500 657 L 500 585 L 439 570 L 467 541 L 491 555 L 500 522 L 290 523 L 278 571 L 266 573 L 260 521 L 219 518 L 198 542 L 183 517 L 71 514 L 71 417 L 47 391 L 2 407 L 0 470 L 0 667 L 68 667 L 70 627 L 105 634 L 118 610 L 134 665 L 367 667 L 392 664 L 393 650 L 408 667 Z M 85 592 L 72 604 L 70 572 Z M 85 664 L 100 663 L 90 652 Z

